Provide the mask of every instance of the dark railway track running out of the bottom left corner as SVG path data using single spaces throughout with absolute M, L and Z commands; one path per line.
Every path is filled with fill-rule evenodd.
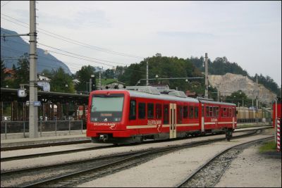
M 233 137 L 247 137 L 256 134 L 258 130 L 250 131 L 246 134 Z M 167 152 L 184 149 L 192 146 L 200 146 L 219 142 L 224 138 L 208 139 L 201 142 L 190 142 L 180 146 L 166 146 L 166 148 L 147 149 L 145 151 L 135 151 L 130 153 L 122 153 L 118 155 L 102 156 L 100 158 L 92 158 L 90 160 L 74 161 L 57 165 L 47 165 L 37 168 L 26 168 L 21 170 L 13 170 L 1 172 L 2 181 L 20 180 L 23 177 L 32 177 L 37 175 L 36 180 L 30 180 L 20 184 L 13 184 L 16 187 L 73 187 L 75 184 L 80 184 L 91 178 L 102 177 L 109 173 L 130 168 L 130 166 L 144 163 L 152 158 L 162 155 Z M 42 175 L 41 175 L 42 174 Z

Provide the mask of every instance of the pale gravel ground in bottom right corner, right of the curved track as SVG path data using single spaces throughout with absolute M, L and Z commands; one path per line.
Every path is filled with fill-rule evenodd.
M 215 187 L 281 187 L 281 152 L 259 153 L 259 145 L 250 146 Z

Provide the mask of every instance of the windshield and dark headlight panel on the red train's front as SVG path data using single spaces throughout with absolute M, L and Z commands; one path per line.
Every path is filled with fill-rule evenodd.
M 123 94 L 94 94 L 90 121 L 120 122 L 123 114 Z

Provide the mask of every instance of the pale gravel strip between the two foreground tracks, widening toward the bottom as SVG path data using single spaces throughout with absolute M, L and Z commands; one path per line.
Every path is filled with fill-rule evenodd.
M 176 184 L 185 180 L 190 173 L 219 151 L 223 151 L 223 149 L 235 144 L 249 142 L 262 137 L 269 137 L 269 135 L 231 139 L 231 142 L 217 142 L 206 146 L 198 146 L 168 153 L 165 156 L 155 158 L 137 167 L 80 184 L 78 187 L 175 187 Z M 249 167 L 245 166 L 245 168 Z M 269 174 L 264 175 L 268 176 Z M 235 183 L 233 185 L 237 187 Z M 227 187 L 230 187 L 230 184 Z

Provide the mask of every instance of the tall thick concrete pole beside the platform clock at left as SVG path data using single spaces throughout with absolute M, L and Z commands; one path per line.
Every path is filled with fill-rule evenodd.
M 35 1 L 30 1 L 30 138 L 38 137 L 38 109 L 34 106 L 37 101 L 37 33 Z

